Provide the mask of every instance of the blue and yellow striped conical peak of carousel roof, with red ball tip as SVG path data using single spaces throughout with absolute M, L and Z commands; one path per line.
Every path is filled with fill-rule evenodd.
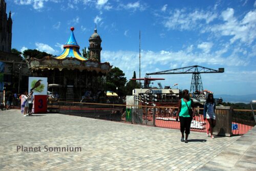
M 79 60 L 87 60 L 87 58 L 84 58 L 81 55 L 81 53 L 79 52 L 80 47 L 77 44 L 76 38 L 75 38 L 74 33 L 73 33 L 75 28 L 71 27 L 70 30 L 71 30 L 70 37 L 69 37 L 68 41 L 66 42 L 66 44 L 63 45 L 64 50 L 56 58 L 57 59 L 64 59 L 64 58 L 67 58 L 67 57 L 73 57 L 73 58 L 77 58 Z

